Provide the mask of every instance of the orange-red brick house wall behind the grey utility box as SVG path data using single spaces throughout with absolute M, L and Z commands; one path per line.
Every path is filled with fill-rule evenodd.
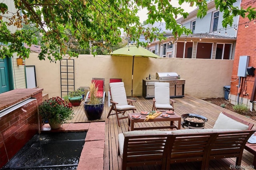
M 242 0 L 242 8 L 247 9 L 249 6 L 252 6 L 252 8 L 256 8 L 256 0 Z M 238 63 L 239 57 L 241 55 L 250 56 L 248 66 L 253 66 L 254 68 L 256 68 L 256 24 L 254 24 L 254 21 L 255 20 L 250 21 L 248 18 L 239 18 L 234 65 L 231 77 L 232 81 L 238 78 Z M 245 25 L 249 25 L 248 28 L 245 28 Z M 256 75 L 256 71 L 254 71 L 254 73 Z M 240 97 L 248 98 L 250 100 L 252 96 L 252 88 L 254 85 L 255 75 L 247 75 L 245 81 L 241 82 L 240 87 L 244 88 L 241 89 Z M 232 95 L 237 95 L 238 88 L 236 87 L 236 85 L 238 85 L 238 80 L 231 83 L 230 93 Z M 256 99 L 254 98 L 254 100 Z

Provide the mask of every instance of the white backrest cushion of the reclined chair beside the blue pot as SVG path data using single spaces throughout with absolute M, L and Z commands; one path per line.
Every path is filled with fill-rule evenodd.
M 112 101 L 117 102 L 116 106 L 128 105 L 124 82 L 109 83 Z

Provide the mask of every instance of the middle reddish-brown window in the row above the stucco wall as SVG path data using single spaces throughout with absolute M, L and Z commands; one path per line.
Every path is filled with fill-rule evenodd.
M 196 58 L 211 59 L 212 43 L 197 43 Z

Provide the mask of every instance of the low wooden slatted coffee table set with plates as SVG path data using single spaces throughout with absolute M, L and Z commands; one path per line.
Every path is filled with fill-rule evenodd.
M 141 118 L 140 119 L 133 119 L 132 115 L 139 115 Z M 146 115 L 142 115 L 140 113 L 129 113 L 128 114 L 128 131 L 132 130 L 148 130 L 148 129 L 160 129 L 160 128 L 176 128 L 180 129 L 181 125 L 181 117 L 174 114 L 170 115 L 170 117 L 165 118 L 158 116 L 155 119 L 149 119 L 147 122 L 163 122 L 163 121 L 170 121 L 170 126 L 161 126 L 161 127 L 139 127 L 139 128 L 134 128 L 134 123 L 139 123 L 139 122 L 144 122 L 146 118 Z M 178 127 L 174 125 L 174 121 L 178 121 Z

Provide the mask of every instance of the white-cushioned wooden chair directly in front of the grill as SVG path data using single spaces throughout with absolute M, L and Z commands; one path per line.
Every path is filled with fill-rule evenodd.
M 152 110 L 174 111 L 174 100 L 170 99 L 170 83 L 156 82 Z

